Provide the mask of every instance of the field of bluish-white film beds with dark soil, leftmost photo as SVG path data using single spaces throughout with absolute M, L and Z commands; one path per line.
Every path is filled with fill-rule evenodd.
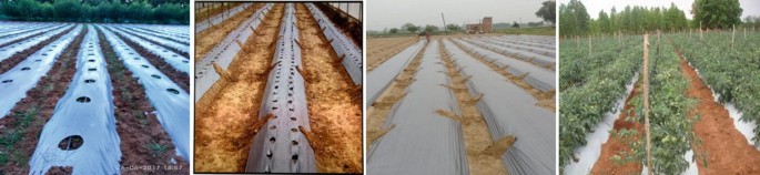
M 0 22 L 0 174 L 189 173 L 188 32 Z

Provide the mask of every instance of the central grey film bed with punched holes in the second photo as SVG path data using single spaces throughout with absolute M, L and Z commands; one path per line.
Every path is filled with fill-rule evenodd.
M 295 7 L 287 3 L 272 60 L 275 68 L 267 72 L 266 90 L 259 111 L 259 120 L 268 114 L 275 117 L 253 137 L 245 172 L 317 172 L 314 151 L 300 132 L 300 127 L 307 131 L 311 127 L 304 79 L 297 70 L 303 64 L 301 48 L 296 43 L 296 22 Z

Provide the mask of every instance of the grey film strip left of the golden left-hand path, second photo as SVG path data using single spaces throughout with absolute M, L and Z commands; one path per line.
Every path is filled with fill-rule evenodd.
M 262 23 L 261 20 L 270 12 L 272 6 L 272 3 L 266 3 L 263 8 L 256 9 L 256 12 L 251 18 L 241 22 L 222 42 L 216 44 L 195 63 L 195 102 L 201 100 L 206 91 L 220 79 L 213 64 L 216 63 L 226 70 L 241 50 L 241 45 L 237 42 L 246 44 L 245 42 L 253 34 L 251 29 L 256 29 Z

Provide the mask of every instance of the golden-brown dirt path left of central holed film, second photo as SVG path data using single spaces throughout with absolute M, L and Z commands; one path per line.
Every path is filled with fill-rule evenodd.
M 249 52 L 239 52 L 230 64 L 229 82 L 212 99 L 210 106 L 195 106 L 195 172 L 243 172 L 254 136 L 259 107 L 272 64 L 273 43 L 277 41 L 283 4 L 276 4 L 256 33 L 247 39 Z M 221 80 L 220 80 L 221 81 Z M 202 110 L 199 110 L 202 109 Z

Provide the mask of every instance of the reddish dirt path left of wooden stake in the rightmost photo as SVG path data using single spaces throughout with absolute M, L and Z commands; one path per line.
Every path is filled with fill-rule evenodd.
M 615 132 L 619 132 L 624 128 L 637 130 L 638 132 L 641 132 L 641 130 L 644 128 L 644 125 L 641 125 L 641 123 L 626 121 L 626 119 L 628 119 L 629 116 L 634 117 L 636 115 L 634 106 L 631 104 L 631 100 L 635 96 L 640 95 L 640 90 L 641 83 L 639 83 L 639 81 L 636 81 L 634 90 L 628 95 L 628 99 L 626 99 L 624 111 L 620 113 L 618 120 L 615 121 Z M 632 140 L 638 140 L 638 135 L 634 136 Z M 599 155 L 599 159 L 597 159 L 597 162 L 594 164 L 594 167 L 591 168 L 591 174 L 640 174 L 642 168 L 640 163 L 631 162 L 620 165 L 619 163 L 616 163 L 611 159 L 612 156 L 618 155 L 621 152 L 626 152 L 628 154 L 632 153 L 632 150 L 628 146 L 627 142 L 632 141 L 620 141 L 615 136 L 615 133 L 611 133 L 609 135 L 609 138 L 607 140 L 607 143 L 601 145 L 601 154 Z

